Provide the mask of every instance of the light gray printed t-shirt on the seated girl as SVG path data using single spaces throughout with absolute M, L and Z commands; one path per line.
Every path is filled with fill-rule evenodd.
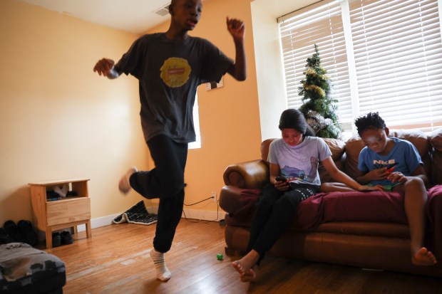
M 270 143 L 269 162 L 279 164 L 281 174 L 296 184 L 320 185 L 319 162 L 332 156 L 329 146 L 319 137 L 306 136 L 297 146 L 278 139 Z

